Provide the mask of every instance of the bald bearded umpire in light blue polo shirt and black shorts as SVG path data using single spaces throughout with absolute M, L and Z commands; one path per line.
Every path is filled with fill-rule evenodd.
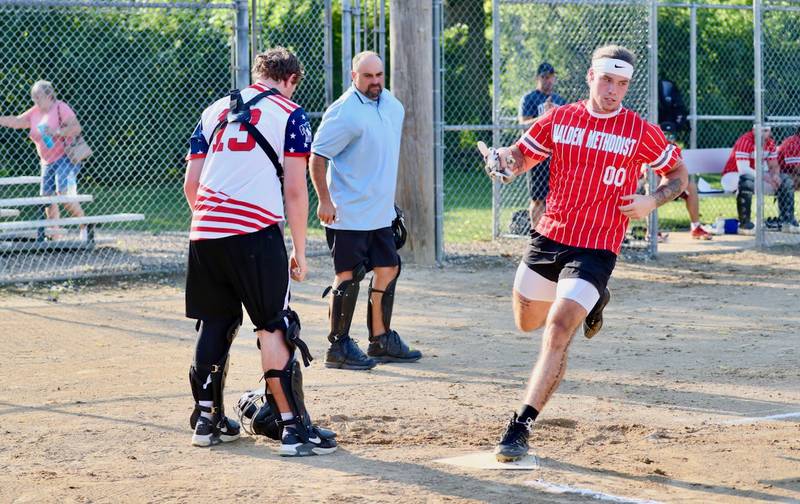
M 336 270 L 329 310 L 326 367 L 372 369 L 378 362 L 422 357 L 390 329 L 400 257 L 392 234 L 403 105 L 384 89 L 384 68 L 372 51 L 353 58 L 353 85 L 322 117 L 311 145 L 317 215 Z M 326 161 L 330 170 L 326 169 Z M 359 283 L 369 284 L 367 355 L 350 337 Z

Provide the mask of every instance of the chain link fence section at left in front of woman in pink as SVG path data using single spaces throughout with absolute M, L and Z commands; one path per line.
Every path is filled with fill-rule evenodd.
M 78 221 L 37 222 L 48 201 L 36 199 L 28 130 L 38 125 L 0 129 L 0 283 L 184 267 L 187 139 L 202 107 L 232 85 L 234 6 L 0 0 L 0 114 L 22 114 L 31 85 L 53 83 L 94 151 L 77 200 L 81 222 L 98 226 L 82 240 Z M 63 207 L 61 217 L 71 218 Z

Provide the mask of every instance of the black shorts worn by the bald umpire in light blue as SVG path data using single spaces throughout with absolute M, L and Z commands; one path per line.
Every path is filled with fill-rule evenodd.
M 353 271 L 359 264 L 364 264 L 367 271 L 400 264 L 390 227 L 373 231 L 325 228 L 325 236 L 336 273 Z

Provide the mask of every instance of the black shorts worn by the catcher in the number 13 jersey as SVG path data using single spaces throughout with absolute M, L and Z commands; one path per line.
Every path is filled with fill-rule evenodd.
M 189 244 L 186 316 L 211 320 L 242 316 L 256 330 L 282 328 L 289 301 L 289 260 L 277 225 L 255 233 Z

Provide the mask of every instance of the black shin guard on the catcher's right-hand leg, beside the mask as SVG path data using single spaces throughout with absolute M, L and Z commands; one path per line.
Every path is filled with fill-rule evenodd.
M 263 429 L 266 436 L 280 439 L 283 431 L 283 425 L 286 422 L 281 420 L 280 410 L 275 401 L 274 391 L 271 390 L 272 385 L 269 380 L 277 378 L 278 386 L 283 392 L 286 402 L 289 404 L 289 409 L 294 415 L 291 424 L 295 425 L 297 433 L 304 441 L 308 441 L 309 437 L 313 435 L 311 416 L 306 411 L 306 404 L 303 394 L 303 372 L 301 371 L 300 363 L 297 362 L 294 356 L 289 358 L 283 369 L 270 369 L 264 373 L 264 381 L 267 382 L 266 386 L 266 400 L 269 404 L 270 413 L 265 413 L 263 422 L 259 420 L 259 429 Z M 263 408 L 262 408 L 263 409 Z

